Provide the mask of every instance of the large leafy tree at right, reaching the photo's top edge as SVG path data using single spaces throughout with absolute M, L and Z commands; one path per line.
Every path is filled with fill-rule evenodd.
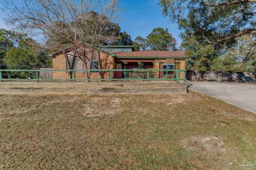
M 183 30 L 181 48 L 190 57 L 187 69 L 253 70 L 255 52 L 241 40 L 256 35 L 256 1 L 160 0 L 159 4 Z

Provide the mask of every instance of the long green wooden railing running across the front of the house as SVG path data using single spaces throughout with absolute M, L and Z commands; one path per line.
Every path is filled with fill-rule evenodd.
M 187 70 L 173 69 L 99 69 L 99 70 L 0 70 L 0 82 L 3 81 L 126 81 L 126 80 L 167 80 L 186 82 Z M 52 73 L 52 78 L 40 77 L 40 72 Z M 65 74 L 63 74 L 63 72 Z M 61 73 L 61 76 L 60 76 Z M 70 74 L 70 78 L 68 77 Z M 81 73 L 83 77 L 81 78 Z M 59 74 L 59 76 L 58 76 Z M 90 75 L 90 78 L 86 77 Z M 100 78 L 94 78 L 96 77 Z M 117 76 L 118 75 L 118 76 Z M 64 79 L 61 77 L 65 77 Z

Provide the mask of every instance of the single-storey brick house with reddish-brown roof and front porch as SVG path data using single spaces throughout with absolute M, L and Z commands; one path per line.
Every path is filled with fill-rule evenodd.
M 90 48 L 88 49 L 90 50 Z M 59 52 L 51 54 L 53 70 L 67 70 L 67 60 Z M 72 52 L 69 52 L 72 60 Z M 100 46 L 94 53 L 91 69 L 93 70 L 121 70 L 122 71 L 93 71 L 91 79 L 131 79 L 147 78 L 163 79 L 175 78 L 175 71 L 159 71 L 164 69 L 185 70 L 185 61 L 188 57 L 179 51 L 134 51 L 134 46 Z M 90 63 L 90 62 L 88 62 Z M 86 79 L 86 72 L 82 71 L 89 66 L 77 58 L 75 64 L 76 79 Z M 139 69 L 139 71 L 137 71 Z M 152 70 L 158 71 L 152 71 Z M 127 70 L 127 71 L 124 71 Z M 134 71 L 132 71 L 134 70 Z M 145 70 L 145 71 L 143 71 Z M 150 70 L 150 75 L 147 75 Z M 184 78 L 184 73 L 179 72 L 179 78 Z M 67 79 L 67 72 L 53 72 L 53 79 Z

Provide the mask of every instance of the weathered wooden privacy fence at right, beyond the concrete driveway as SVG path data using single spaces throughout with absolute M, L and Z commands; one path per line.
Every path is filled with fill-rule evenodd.
M 244 82 L 255 81 L 256 72 L 187 71 L 189 81 Z

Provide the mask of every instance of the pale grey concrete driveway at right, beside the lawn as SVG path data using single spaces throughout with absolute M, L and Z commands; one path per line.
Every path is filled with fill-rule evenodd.
M 189 89 L 215 97 L 256 114 L 256 84 L 188 82 Z

